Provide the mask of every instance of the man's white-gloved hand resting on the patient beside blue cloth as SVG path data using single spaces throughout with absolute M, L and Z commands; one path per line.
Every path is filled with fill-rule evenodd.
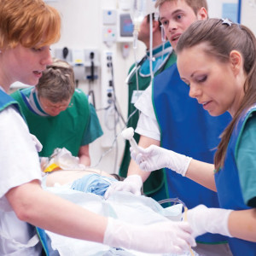
M 143 179 L 139 175 L 130 175 L 125 178 L 124 181 L 119 181 L 116 183 L 111 184 L 105 195 L 104 198 L 108 199 L 109 195 L 112 195 L 115 191 L 127 191 L 131 192 L 134 195 L 142 195 L 141 189 L 143 187 Z

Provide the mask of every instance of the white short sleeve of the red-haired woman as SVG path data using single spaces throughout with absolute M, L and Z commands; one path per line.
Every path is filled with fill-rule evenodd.
M 10 106 L 0 112 L 0 204 L 20 184 L 41 180 L 38 152 L 25 121 Z

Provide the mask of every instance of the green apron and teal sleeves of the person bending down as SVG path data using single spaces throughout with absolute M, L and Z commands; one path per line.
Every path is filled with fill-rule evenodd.
M 71 99 L 72 107 L 55 117 L 42 116 L 32 111 L 30 104 L 26 101 L 31 92 L 32 88 L 17 90 L 11 96 L 19 102 L 30 132 L 38 137 L 43 145 L 42 151 L 39 152 L 40 156 L 49 157 L 55 148 L 67 148 L 77 156 L 80 146 L 91 143 L 102 135 L 102 128 L 96 118 L 95 110 L 81 90 L 75 90 Z

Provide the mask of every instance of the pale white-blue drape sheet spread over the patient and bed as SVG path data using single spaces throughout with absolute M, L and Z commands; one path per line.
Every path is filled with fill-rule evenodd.
M 101 195 L 92 193 L 84 193 L 81 191 L 70 189 L 68 185 L 60 187 L 45 187 L 55 195 L 73 201 L 73 203 L 84 207 L 92 212 L 102 214 L 104 216 L 119 218 L 130 224 L 153 224 L 155 222 L 166 221 L 166 218 L 179 220 L 183 205 L 177 204 L 172 207 L 163 208 L 159 203 L 146 196 L 137 196 L 129 192 L 117 192 L 111 195 L 108 200 L 104 200 Z M 82 220 L 81 221 L 86 221 Z M 60 236 L 55 233 L 46 231 L 51 240 L 53 249 L 58 250 L 61 256 L 139 256 L 139 255 L 161 255 L 139 253 L 131 250 L 122 250 L 121 248 L 111 248 L 106 245 L 73 239 L 66 236 Z M 194 253 L 195 255 L 198 255 Z M 175 256 L 176 254 L 165 254 L 165 256 Z M 182 255 L 191 255 L 189 252 Z

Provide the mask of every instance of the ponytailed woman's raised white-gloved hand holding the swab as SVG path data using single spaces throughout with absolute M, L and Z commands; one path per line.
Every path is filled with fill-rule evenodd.
M 130 151 L 131 158 L 145 172 L 152 172 L 166 167 L 185 176 L 189 163 L 192 160 L 191 157 L 177 154 L 172 150 L 160 148 L 155 145 L 151 145 L 148 148 L 139 147 L 139 153 L 133 148 L 130 148 Z

